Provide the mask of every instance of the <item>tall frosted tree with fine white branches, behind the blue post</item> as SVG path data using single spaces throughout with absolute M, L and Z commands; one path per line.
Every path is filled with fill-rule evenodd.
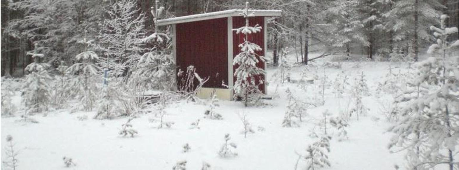
M 99 32 L 99 49 L 104 53 L 106 69 L 115 77 L 129 77 L 144 49 L 145 14 L 136 0 L 118 0 L 106 9 Z

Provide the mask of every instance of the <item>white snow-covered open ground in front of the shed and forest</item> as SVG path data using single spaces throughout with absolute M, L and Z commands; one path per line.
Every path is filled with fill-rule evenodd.
M 304 71 L 308 77 L 314 74 L 322 76 L 324 69 L 321 65 L 325 60 L 330 59 L 319 59 L 313 66 L 294 66 L 292 79 L 300 79 Z M 62 160 L 64 156 L 73 159 L 76 166 L 69 169 L 75 170 L 167 170 L 181 160 L 187 161 L 186 167 L 190 170 L 201 169 L 203 162 L 210 164 L 213 170 L 293 170 L 298 159 L 296 153 L 305 154 L 308 144 L 317 140 L 311 137 L 311 133 L 322 133 L 317 126 L 322 112 L 329 110 L 337 116 L 338 105 L 342 109 L 349 101 L 350 94 L 346 93 L 338 101 L 333 93 L 331 83 L 336 75 L 344 71 L 352 85 L 354 77 L 363 71 L 371 92 L 370 96 L 363 98 L 369 113 L 359 120 L 355 117 L 350 119 L 348 140 L 338 141 L 333 135 L 336 130 L 329 128 L 333 137 L 329 153 L 331 167 L 323 169 L 388 170 L 394 169 L 394 165 L 403 169 L 403 153 L 391 154 L 387 149 L 392 134 L 386 130 L 392 123 L 386 121 L 378 102 L 387 95 L 378 96 L 375 89 L 378 82 L 385 79 L 389 66 L 395 71 L 407 71 L 408 64 L 341 62 L 341 65 L 341 69 L 325 68 L 330 83 L 325 90 L 325 104 L 308 109 L 300 127 L 281 126 L 288 104 L 285 90 L 289 88 L 296 98 L 308 102 L 319 89 L 311 84 L 305 91 L 297 83 L 274 81 L 272 75 L 277 69 L 270 67 L 268 93 L 274 99 L 265 100 L 267 105 L 244 107 L 240 102 L 220 101 L 216 111 L 224 119 L 210 120 L 203 118 L 207 105 L 182 101 L 167 108 L 165 119 L 174 122 L 171 128 L 157 129 L 157 124 L 149 121 L 154 114 L 139 115 L 131 121 L 133 128 L 139 132 L 132 138 L 118 135 L 127 118 L 94 120 L 91 118 L 95 111 L 70 113 L 69 110 L 56 110 L 47 116 L 32 116 L 39 123 L 18 121 L 20 114 L 1 118 L 1 158 L 5 158 L 4 140 L 11 135 L 15 148 L 19 150 L 18 170 L 66 169 Z M 20 105 L 19 92 L 14 104 Z M 241 134 L 243 126 L 239 116 L 244 113 L 255 131 L 246 138 Z M 79 120 L 84 115 L 89 119 Z M 199 129 L 190 129 L 190 124 L 198 119 Z M 226 133 L 238 146 L 235 149 L 238 156 L 234 158 L 218 156 Z M 191 148 L 187 153 L 183 153 L 185 143 Z M 305 164 L 304 160 L 300 160 L 297 169 L 304 169 Z

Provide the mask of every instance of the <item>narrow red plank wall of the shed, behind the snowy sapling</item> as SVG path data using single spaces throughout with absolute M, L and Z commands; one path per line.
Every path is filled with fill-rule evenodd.
M 261 32 L 259 33 L 252 33 L 252 34 L 249 34 L 248 35 L 248 40 L 252 43 L 255 43 L 257 45 L 259 45 L 263 50 L 261 51 L 257 51 L 257 55 L 261 55 L 261 56 L 264 56 L 264 16 L 255 16 L 255 17 L 249 17 L 249 25 L 250 26 L 255 26 L 257 25 L 258 26 L 261 26 L 262 29 L 261 29 Z M 239 28 L 239 27 L 243 27 L 246 25 L 246 19 L 242 16 L 233 16 L 233 28 Z M 233 32 L 233 55 L 234 57 L 236 55 L 238 55 L 239 53 L 241 53 L 241 48 L 239 47 L 239 44 L 243 43 L 244 42 L 244 34 L 242 33 L 239 33 L 239 34 L 236 34 L 236 32 L 234 31 Z M 257 66 L 260 67 L 260 68 L 263 68 L 263 70 L 265 69 L 264 68 L 264 62 L 260 60 L 260 62 L 257 63 Z M 233 69 L 236 70 L 237 66 L 234 66 Z M 260 78 L 262 80 L 264 80 L 264 76 L 259 76 L 259 77 L 255 77 L 255 81 L 256 83 L 258 83 L 258 80 L 260 80 Z M 236 77 L 234 77 L 234 82 L 236 82 Z M 264 89 L 264 84 L 260 84 L 258 86 L 261 91 L 263 93 L 265 93 L 265 89 Z

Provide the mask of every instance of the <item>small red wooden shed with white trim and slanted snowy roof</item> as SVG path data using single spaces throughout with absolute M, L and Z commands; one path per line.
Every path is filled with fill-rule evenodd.
M 222 81 L 229 87 L 233 86 L 233 73 L 237 67 L 233 66 L 233 58 L 241 52 L 238 47 L 244 41 L 243 34 L 236 34 L 232 29 L 245 25 L 245 19 L 240 15 L 243 10 L 227 10 L 180 16 L 158 20 L 158 26 L 172 25 L 173 55 L 180 69 L 193 65 L 200 77 L 209 77 L 209 81 L 198 92 L 198 97 L 208 98 L 213 90 L 219 99 L 231 100 L 233 91 L 222 85 Z M 249 10 L 255 15 L 249 17 L 250 26 L 258 24 L 262 27 L 260 33 L 249 35 L 249 41 L 258 44 L 263 51 L 258 55 L 266 54 L 266 27 L 271 16 L 280 16 L 280 10 Z M 265 68 L 266 63 L 259 62 L 258 67 Z M 263 77 L 266 82 L 266 77 Z M 177 84 L 179 86 L 179 84 Z M 266 93 L 266 83 L 260 85 Z

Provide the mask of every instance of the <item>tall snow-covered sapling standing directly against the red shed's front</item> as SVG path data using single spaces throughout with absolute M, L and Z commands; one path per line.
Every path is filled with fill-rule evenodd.
M 257 104 L 260 99 L 262 92 L 258 85 L 263 84 L 263 75 L 265 71 L 262 68 L 257 67 L 257 63 L 264 62 L 264 57 L 257 55 L 256 51 L 261 51 L 262 48 L 254 43 L 249 42 L 248 34 L 258 33 L 262 27 L 255 25 L 254 27 L 249 26 L 249 17 L 255 16 L 253 13 L 249 13 L 249 3 L 246 2 L 246 9 L 240 14 L 245 18 L 246 25 L 240 28 L 233 29 L 236 34 L 243 33 L 245 35 L 244 42 L 239 44 L 241 53 L 237 54 L 233 60 L 233 65 L 237 66 L 234 76 L 236 81 L 234 83 L 234 98 L 241 98 L 245 106 L 251 104 Z M 256 81 L 257 78 L 259 79 Z

